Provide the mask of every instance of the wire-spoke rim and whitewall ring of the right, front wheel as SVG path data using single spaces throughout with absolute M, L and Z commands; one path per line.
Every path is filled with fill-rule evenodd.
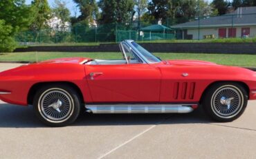
M 212 111 L 220 118 L 233 118 L 244 105 L 244 96 L 239 88 L 225 85 L 217 88 L 211 98 Z

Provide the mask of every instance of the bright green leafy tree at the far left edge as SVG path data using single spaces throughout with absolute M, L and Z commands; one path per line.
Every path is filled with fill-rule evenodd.
M 28 28 L 31 23 L 30 9 L 24 0 L 0 1 L 0 52 L 15 49 L 15 34 Z

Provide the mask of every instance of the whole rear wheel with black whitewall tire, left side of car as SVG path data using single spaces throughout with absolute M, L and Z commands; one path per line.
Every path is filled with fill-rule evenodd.
M 66 84 L 48 84 L 39 88 L 33 101 L 37 118 L 51 127 L 74 122 L 82 107 L 80 96 Z

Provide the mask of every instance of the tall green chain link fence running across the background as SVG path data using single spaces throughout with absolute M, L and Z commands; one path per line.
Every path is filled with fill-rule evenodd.
M 143 30 L 143 28 L 152 26 L 153 24 L 158 24 L 158 21 L 25 31 L 19 32 L 16 35 L 16 40 L 21 44 L 58 44 L 118 42 L 124 39 L 158 41 L 256 36 L 256 14 L 239 15 L 233 13 L 215 17 L 166 19 L 162 21 L 162 25 L 167 27 L 167 30 Z

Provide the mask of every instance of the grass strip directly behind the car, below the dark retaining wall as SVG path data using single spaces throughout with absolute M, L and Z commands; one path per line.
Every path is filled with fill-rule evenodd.
M 229 66 L 256 67 L 256 55 L 203 54 L 203 53 L 154 53 L 161 59 L 199 59 Z M 120 53 L 0 53 L 0 61 L 43 61 L 59 57 L 91 57 L 93 59 L 119 59 Z

